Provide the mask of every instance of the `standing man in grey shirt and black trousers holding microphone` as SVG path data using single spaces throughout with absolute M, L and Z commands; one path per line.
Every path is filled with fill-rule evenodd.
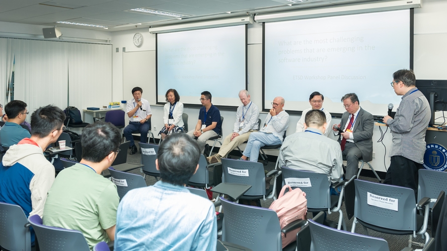
M 413 70 L 394 72 L 391 86 L 397 95 L 403 97 L 394 119 L 390 116 L 383 118 L 393 135 L 389 154 L 391 163 L 384 183 L 412 188 L 417 195 L 418 170 L 424 162 L 425 132 L 431 117 L 430 105 L 416 88 Z

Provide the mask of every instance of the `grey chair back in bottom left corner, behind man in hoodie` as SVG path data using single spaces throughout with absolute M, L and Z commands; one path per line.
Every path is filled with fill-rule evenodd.
M 0 246 L 6 250 L 31 251 L 31 233 L 18 205 L 0 202 Z

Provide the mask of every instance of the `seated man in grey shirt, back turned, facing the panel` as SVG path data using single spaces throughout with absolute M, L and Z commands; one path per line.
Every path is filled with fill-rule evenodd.
M 327 174 L 331 183 L 343 177 L 340 144 L 323 134 L 326 115 L 321 110 L 307 112 L 304 131 L 288 136 L 281 146 L 279 166 Z

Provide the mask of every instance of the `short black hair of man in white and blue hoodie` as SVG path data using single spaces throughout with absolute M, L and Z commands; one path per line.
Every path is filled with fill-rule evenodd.
M 65 114 L 61 108 L 52 105 L 39 107 L 31 115 L 31 135 L 44 138 L 61 129 L 64 121 Z

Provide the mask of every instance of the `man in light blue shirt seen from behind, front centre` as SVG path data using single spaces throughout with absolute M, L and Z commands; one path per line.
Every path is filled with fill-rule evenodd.
M 199 146 L 175 133 L 158 148 L 160 181 L 130 190 L 117 211 L 116 251 L 215 251 L 217 221 L 211 201 L 185 184 L 199 168 Z

